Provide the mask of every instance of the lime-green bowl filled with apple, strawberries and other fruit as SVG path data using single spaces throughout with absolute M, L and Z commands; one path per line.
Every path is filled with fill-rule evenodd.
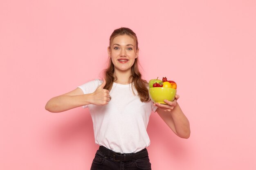
M 148 82 L 149 96 L 154 103 L 166 104 L 164 99 L 173 101 L 177 92 L 177 84 L 163 77 L 162 80 L 151 79 Z

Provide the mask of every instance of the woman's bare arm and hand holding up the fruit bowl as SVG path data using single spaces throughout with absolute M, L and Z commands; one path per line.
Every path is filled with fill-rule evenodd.
M 189 120 L 177 103 L 179 96 L 176 95 L 175 98 L 173 102 L 164 101 L 168 105 L 156 103 L 155 105 L 158 107 L 156 111 L 177 136 L 187 139 L 190 136 Z

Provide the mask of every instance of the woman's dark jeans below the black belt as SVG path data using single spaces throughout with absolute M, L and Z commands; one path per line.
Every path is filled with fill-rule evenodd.
M 140 152 L 147 153 L 147 150 L 144 149 Z M 97 150 L 92 161 L 91 170 L 151 170 L 151 163 L 149 162 L 148 154 L 146 154 L 145 157 L 139 159 L 129 161 L 116 161 L 114 157 L 109 156 L 109 154 L 106 152 L 103 153 L 99 149 Z

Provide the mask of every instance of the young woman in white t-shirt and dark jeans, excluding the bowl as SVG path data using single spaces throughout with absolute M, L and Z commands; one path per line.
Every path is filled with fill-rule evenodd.
M 146 147 L 150 113 L 157 112 L 173 132 L 190 135 L 189 121 L 175 96 L 173 102 L 153 104 L 148 84 L 138 67 L 138 40 L 128 28 L 116 29 L 110 36 L 109 66 L 103 80 L 87 82 L 74 91 L 53 97 L 45 109 L 63 112 L 79 106 L 90 109 L 95 143 L 99 150 L 91 170 L 151 170 Z

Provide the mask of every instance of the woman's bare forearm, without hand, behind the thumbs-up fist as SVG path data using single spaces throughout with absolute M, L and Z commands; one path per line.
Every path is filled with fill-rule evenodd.
M 90 104 L 90 98 L 91 94 L 74 96 L 61 95 L 50 99 L 45 105 L 45 109 L 52 113 L 63 112 L 72 108 Z

